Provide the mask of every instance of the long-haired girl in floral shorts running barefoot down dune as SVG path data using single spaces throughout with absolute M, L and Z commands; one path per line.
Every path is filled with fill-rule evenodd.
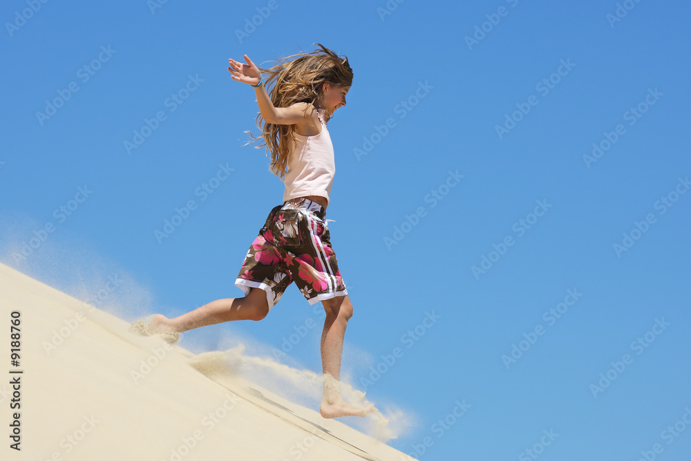
M 176 341 L 178 333 L 200 326 L 261 320 L 295 282 L 310 304 L 321 301 L 326 311 L 321 335 L 321 415 L 364 416 L 375 408 L 346 403 L 339 388 L 343 337 L 352 304 L 325 220 L 335 173 L 326 124 L 345 106 L 353 74 L 347 57 L 316 45 L 319 50 L 286 57 L 269 69 L 258 68 L 247 55 L 247 64 L 228 60 L 231 78 L 254 88 L 260 111 L 256 123 L 262 133 L 252 138 L 262 140 L 258 147 L 266 146 L 271 152 L 270 169 L 285 183 L 283 204 L 269 212 L 240 268 L 235 284 L 245 297 L 218 299 L 175 319 L 157 314 L 149 325 L 138 323 L 138 330 Z M 270 86 L 268 93 L 266 86 Z

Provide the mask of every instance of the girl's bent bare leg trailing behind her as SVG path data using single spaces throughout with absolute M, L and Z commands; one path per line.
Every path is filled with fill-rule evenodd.
M 261 320 L 268 312 L 266 292 L 252 288 L 246 297 L 217 299 L 174 319 L 156 314 L 151 319 L 151 332 L 184 332 L 232 320 Z

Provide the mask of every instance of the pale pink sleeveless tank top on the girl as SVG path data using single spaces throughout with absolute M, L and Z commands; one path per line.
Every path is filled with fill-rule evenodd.
M 324 122 L 324 109 L 317 109 L 321 122 L 321 133 L 314 136 L 303 136 L 293 133 L 288 154 L 287 173 L 283 178 L 285 192 L 283 201 L 303 196 L 320 196 L 329 203 L 331 185 L 336 174 L 334 145 Z

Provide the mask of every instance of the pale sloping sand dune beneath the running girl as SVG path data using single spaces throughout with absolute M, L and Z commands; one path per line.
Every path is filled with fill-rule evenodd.
M 19 367 L 10 364 L 13 311 L 21 312 Z M 214 366 L 213 352 L 193 357 L 128 327 L 0 264 L 0 459 L 413 459 Z M 13 410 L 15 377 L 21 409 Z M 8 437 L 15 412 L 21 451 Z

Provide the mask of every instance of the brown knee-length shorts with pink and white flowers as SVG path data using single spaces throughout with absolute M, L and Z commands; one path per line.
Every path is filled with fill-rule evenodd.
M 249 247 L 235 285 L 266 292 L 269 309 L 290 283 L 310 304 L 348 294 L 329 241 L 325 210 L 307 198 L 274 207 Z

